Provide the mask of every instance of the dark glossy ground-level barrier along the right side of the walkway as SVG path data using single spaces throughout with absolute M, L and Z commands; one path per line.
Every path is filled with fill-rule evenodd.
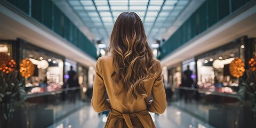
M 176 106 L 214 127 L 256 127 L 252 104 L 242 104 L 238 96 L 189 87 L 166 89 L 169 105 Z

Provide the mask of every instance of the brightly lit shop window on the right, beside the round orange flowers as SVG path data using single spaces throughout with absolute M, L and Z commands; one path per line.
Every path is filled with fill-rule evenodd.
M 231 62 L 243 54 L 244 46 L 223 47 L 197 59 L 197 84 L 199 89 L 218 91 L 223 93 L 236 93 L 238 91 L 239 77 L 234 75 Z M 203 57 L 202 57 L 203 56 Z M 239 59 L 239 62 L 243 59 Z M 244 66 L 243 66 L 244 67 Z

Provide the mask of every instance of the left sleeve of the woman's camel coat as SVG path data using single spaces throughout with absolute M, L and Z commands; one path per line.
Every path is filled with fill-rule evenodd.
M 102 70 L 101 70 L 101 58 L 98 59 L 95 67 L 95 76 L 93 82 L 92 92 L 92 107 L 94 111 L 100 113 L 110 109 L 109 100 L 107 100 L 107 92 L 103 82 Z

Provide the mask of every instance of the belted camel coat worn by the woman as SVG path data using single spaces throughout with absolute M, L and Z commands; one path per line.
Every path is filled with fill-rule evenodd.
M 156 66 L 157 77 L 145 83 L 147 98 L 123 107 L 113 92 L 114 83 L 110 79 L 114 71 L 113 58 L 108 55 L 98 59 L 95 67 L 92 107 L 97 113 L 110 110 L 105 127 L 155 127 L 148 111 L 162 114 L 167 105 L 159 61 Z M 150 101 L 151 96 L 153 101 Z

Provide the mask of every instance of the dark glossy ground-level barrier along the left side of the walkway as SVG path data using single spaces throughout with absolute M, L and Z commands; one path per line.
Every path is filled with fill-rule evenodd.
M 40 128 L 52 125 L 61 118 L 83 107 L 80 87 L 52 92 L 28 94 L 23 107 L 14 111 L 9 127 Z

